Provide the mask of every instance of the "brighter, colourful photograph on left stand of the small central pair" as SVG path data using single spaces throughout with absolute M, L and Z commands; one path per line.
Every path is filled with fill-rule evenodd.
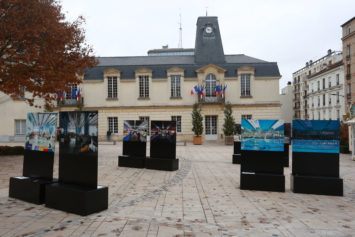
M 147 120 L 124 120 L 123 140 L 124 141 L 147 141 L 148 134 Z

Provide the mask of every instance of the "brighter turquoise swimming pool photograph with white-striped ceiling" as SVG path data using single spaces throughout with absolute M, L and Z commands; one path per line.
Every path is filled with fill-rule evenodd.
M 284 120 L 242 119 L 241 150 L 284 151 Z

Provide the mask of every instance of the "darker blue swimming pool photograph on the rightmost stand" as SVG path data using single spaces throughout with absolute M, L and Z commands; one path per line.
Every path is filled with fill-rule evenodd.
M 339 120 L 293 120 L 292 151 L 339 153 Z

